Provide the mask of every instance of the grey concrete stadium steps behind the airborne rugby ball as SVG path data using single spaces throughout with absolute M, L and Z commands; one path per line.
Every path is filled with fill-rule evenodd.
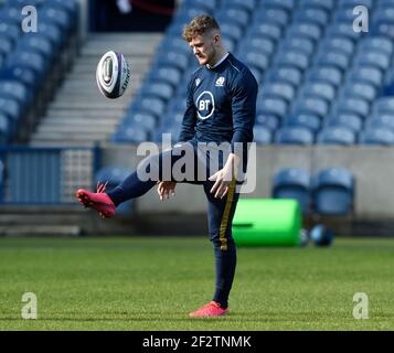
M 116 130 L 149 71 L 161 33 L 92 34 L 56 90 L 30 139 L 31 146 L 94 146 Z M 96 66 L 109 50 L 131 62 L 131 85 L 118 99 L 107 99 L 96 84 Z

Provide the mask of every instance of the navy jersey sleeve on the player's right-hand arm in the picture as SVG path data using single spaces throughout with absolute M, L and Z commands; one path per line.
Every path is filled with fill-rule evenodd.
M 235 143 L 253 141 L 253 127 L 256 119 L 257 82 L 251 73 L 238 75 L 232 88 L 233 138 L 232 151 Z

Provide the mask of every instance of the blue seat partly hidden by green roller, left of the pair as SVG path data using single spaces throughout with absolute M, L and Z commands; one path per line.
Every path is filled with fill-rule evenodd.
M 298 168 L 278 171 L 273 180 L 274 199 L 294 199 L 298 202 L 302 213 L 309 211 L 310 175 Z

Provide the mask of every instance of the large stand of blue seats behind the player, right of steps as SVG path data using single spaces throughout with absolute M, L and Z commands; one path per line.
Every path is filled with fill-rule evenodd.
M 370 11 L 372 35 L 352 29 L 353 8 L 360 4 Z M 180 39 L 181 30 L 194 15 L 210 13 L 220 21 L 228 49 L 248 64 L 259 83 L 257 143 L 283 143 L 283 130 L 288 127 L 301 128 L 295 142 L 306 143 L 304 129 L 309 129 L 308 143 L 364 143 L 359 133 L 366 129 L 371 111 L 381 114 L 375 106 L 384 99 L 383 88 L 393 71 L 393 35 L 387 29 L 394 23 L 391 7 L 384 0 L 183 1 L 118 129 L 135 125 L 134 114 L 152 113 L 139 103 L 141 96 L 159 95 L 157 126 L 172 130 L 172 117 L 182 114 L 182 107 L 175 108 L 168 86 L 158 92 L 155 85 L 179 87 L 177 100 L 185 98 L 180 87 L 188 84 L 196 64 Z M 156 130 L 147 132 L 152 139 L 158 136 Z M 111 140 L 127 141 L 118 136 Z

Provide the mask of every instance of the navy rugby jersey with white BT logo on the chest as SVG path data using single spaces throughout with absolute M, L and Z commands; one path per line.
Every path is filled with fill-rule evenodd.
M 257 82 L 231 53 L 217 66 L 199 67 L 188 86 L 179 141 L 252 142 Z

